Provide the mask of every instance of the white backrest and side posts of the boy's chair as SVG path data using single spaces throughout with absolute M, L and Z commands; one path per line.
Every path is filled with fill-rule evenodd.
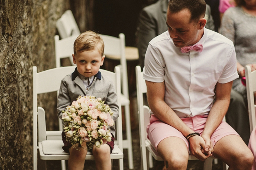
M 37 106 L 37 94 L 55 92 L 59 90 L 60 83 L 64 76 L 72 73 L 75 70 L 75 66 L 59 67 L 49 69 L 41 72 L 37 72 L 37 67 L 33 67 L 33 155 L 34 155 L 34 167 L 37 166 L 37 149 L 38 141 L 47 140 L 46 134 L 46 122 L 44 114 L 38 117 L 38 112 L 44 112 L 43 108 Z M 119 106 L 119 118 L 116 120 L 116 141 L 118 142 L 119 149 L 123 152 L 123 134 L 122 134 L 122 114 L 121 114 L 121 76 L 119 67 L 115 67 L 115 72 L 100 69 L 102 75 L 107 75 L 114 83 L 118 97 Z M 37 133 L 38 131 L 38 133 Z M 61 132 L 60 134 L 61 135 Z M 37 140 L 38 138 L 38 140 Z

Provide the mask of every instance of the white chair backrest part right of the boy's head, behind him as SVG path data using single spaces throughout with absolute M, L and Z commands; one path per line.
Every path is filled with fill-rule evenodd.
M 104 41 L 104 55 L 111 59 L 119 59 L 121 65 L 121 85 L 122 94 L 129 99 L 128 91 L 128 76 L 127 76 L 127 64 L 126 64 L 126 54 L 125 54 L 125 36 L 123 33 L 119 34 L 119 37 L 112 37 L 109 35 L 101 34 Z

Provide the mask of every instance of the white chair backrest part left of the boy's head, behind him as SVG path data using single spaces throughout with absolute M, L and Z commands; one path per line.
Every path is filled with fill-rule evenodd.
M 78 35 L 73 35 L 71 37 L 66 37 L 64 39 L 59 39 L 59 35 L 54 36 L 55 41 L 55 60 L 56 60 L 56 68 L 61 67 L 60 60 L 62 58 L 69 58 L 71 64 L 76 66 L 73 63 L 72 54 L 74 52 L 73 46 L 74 42 Z

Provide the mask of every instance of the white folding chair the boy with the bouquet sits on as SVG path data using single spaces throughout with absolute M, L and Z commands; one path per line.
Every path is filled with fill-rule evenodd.
M 41 160 L 68 160 L 69 154 L 62 150 L 62 131 L 46 131 L 45 111 L 37 106 L 37 94 L 55 92 L 59 90 L 61 80 L 67 74 L 74 71 L 76 67 L 60 67 L 41 71 L 37 73 L 37 67 L 33 67 L 33 166 L 37 170 L 37 151 L 39 150 Z M 116 87 L 118 105 L 121 108 L 121 81 L 119 67 L 115 72 L 100 69 L 102 75 L 108 76 Z M 37 126 L 38 122 L 38 126 Z M 38 140 L 37 140 L 38 139 Z M 122 113 L 116 120 L 115 147 L 111 153 L 111 159 L 119 159 L 119 169 L 123 170 L 123 135 L 122 135 Z M 86 156 L 87 160 L 94 159 L 91 153 Z

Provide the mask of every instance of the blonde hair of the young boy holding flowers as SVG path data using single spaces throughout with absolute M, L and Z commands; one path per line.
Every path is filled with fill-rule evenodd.
M 104 42 L 99 34 L 93 31 L 86 31 L 80 34 L 74 42 L 74 55 L 77 52 L 91 51 L 97 48 L 101 56 L 104 53 Z

